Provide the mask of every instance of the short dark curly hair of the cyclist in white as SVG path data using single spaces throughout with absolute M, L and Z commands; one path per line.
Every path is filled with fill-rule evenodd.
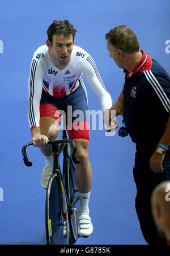
M 76 29 L 74 26 L 69 22 L 69 20 L 53 20 L 53 23 L 50 24 L 48 30 L 46 31 L 48 35 L 48 40 L 50 43 L 53 43 L 53 35 L 55 34 L 63 34 L 64 36 L 73 35 L 73 40 L 75 37 Z

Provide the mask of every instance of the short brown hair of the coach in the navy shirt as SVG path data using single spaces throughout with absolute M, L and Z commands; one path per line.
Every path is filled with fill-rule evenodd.
M 105 39 L 109 40 L 113 47 L 126 53 L 139 51 L 137 36 L 130 28 L 127 28 L 126 25 L 113 28 L 113 30 L 110 30 L 105 35 Z

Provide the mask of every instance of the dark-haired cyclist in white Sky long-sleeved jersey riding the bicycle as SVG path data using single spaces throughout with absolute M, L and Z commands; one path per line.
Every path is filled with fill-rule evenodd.
M 41 186 L 46 188 L 53 166 L 50 145 L 46 144 L 58 136 L 61 114 L 65 114 L 69 139 L 75 142 L 76 156 L 80 160 L 80 164 L 75 166 L 75 182 L 80 197 L 79 236 L 87 237 L 93 231 L 88 208 L 92 169 L 88 160 L 90 120 L 82 73 L 99 98 L 103 112 L 111 108 L 112 99 L 90 54 L 74 45 L 75 33 L 68 20 L 54 20 L 47 31 L 46 45 L 33 54 L 28 79 L 28 120 L 32 143 L 45 157 Z M 83 113 L 78 121 L 73 115 L 77 110 Z

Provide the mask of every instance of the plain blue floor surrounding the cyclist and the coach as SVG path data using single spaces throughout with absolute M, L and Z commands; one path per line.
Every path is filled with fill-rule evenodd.
M 33 166 L 26 167 L 21 154 L 22 146 L 31 141 L 27 81 L 33 52 L 45 44 L 46 30 L 54 19 L 69 19 L 78 30 L 75 44 L 92 55 L 115 102 L 124 74 L 109 58 L 105 33 L 126 24 L 137 34 L 141 48 L 169 74 L 170 55 L 165 44 L 170 39 L 169 0 L 50 0 L 48 3 L 19 0 L 0 5 L 0 40 L 3 41 L 3 49 L 0 44 L 0 244 L 43 245 L 46 244 L 46 191 L 41 188 L 40 177 L 44 158 L 39 149 L 29 148 Z M 86 79 L 85 83 L 89 108 L 98 110 L 99 101 Z M 121 117 L 118 121 L 121 125 Z M 135 145 L 130 137 L 121 138 L 117 133 L 106 137 L 104 131 L 91 131 L 90 215 L 94 233 L 89 238 L 79 238 L 77 245 L 146 244 L 134 206 L 134 154 Z

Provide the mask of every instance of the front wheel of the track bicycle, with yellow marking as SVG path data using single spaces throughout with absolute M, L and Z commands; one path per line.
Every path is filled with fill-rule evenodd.
M 58 182 L 58 174 L 52 174 L 46 190 L 45 226 L 48 245 L 69 244 L 66 195 L 62 181 L 61 191 Z

